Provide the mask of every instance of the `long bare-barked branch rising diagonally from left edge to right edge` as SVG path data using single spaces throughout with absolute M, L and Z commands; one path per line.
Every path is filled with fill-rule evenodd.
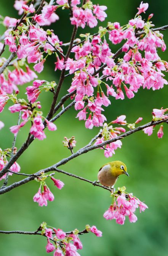
M 155 121 L 155 122 L 153 122 L 153 121 L 152 121 L 152 122 L 149 122 L 149 123 L 147 123 L 147 124 L 144 124 L 144 125 L 142 125 L 142 126 L 139 126 L 139 127 L 135 128 L 135 129 L 133 129 L 133 130 L 129 130 L 128 132 L 125 132 L 124 134 L 121 134 L 121 135 L 115 137 L 114 139 L 106 140 L 106 141 L 104 141 L 103 143 L 100 143 L 100 144 L 98 144 L 98 145 L 92 145 L 92 146 L 89 146 L 89 147 L 83 147 L 83 148 L 81 148 L 80 150 L 78 150 L 76 153 L 70 155 L 69 157 L 62 159 L 62 160 L 59 161 L 58 163 L 56 163 L 56 164 L 54 164 L 54 165 L 52 165 L 52 166 L 50 166 L 50 167 L 48 167 L 48 168 L 45 168 L 45 169 L 43 169 L 43 170 L 40 170 L 40 171 L 38 171 L 38 172 L 35 173 L 35 174 L 38 175 L 38 174 L 40 174 L 41 172 L 47 173 L 47 172 L 49 172 L 49 171 L 57 171 L 57 170 L 58 170 L 58 169 L 57 169 L 58 166 L 64 165 L 64 164 L 66 164 L 68 161 L 70 161 L 70 160 L 72 160 L 72 159 L 74 159 L 74 158 L 76 158 L 76 157 L 78 157 L 78 156 L 80 156 L 80 155 L 82 155 L 82 154 L 84 154 L 84 153 L 87 153 L 87 152 L 89 152 L 89 151 L 91 151 L 91 150 L 94 150 L 94 149 L 96 149 L 96 148 L 101 148 L 101 147 L 103 147 L 103 146 L 105 146 L 105 145 L 107 145 L 107 144 L 110 144 L 110 143 L 115 142 L 115 141 L 117 141 L 117 140 L 121 140 L 121 139 L 123 139 L 123 138 L 125 138 L 125 137 L 127 137 L 127 136 L 129 136 L 129 135 L 131 135 L 131 134 L 133 134 L 133 133 L 135 133 L 135 132 L 138 132 L 138 131 L 144 129 L 144 128 L 147 128 L 147 127 L 150 127 L 150 126 L 156 126 L 156 125 L 161 124 L 161 123 L 163 123 L 163 122 L 168 122 L 168 118 L 167 118 L 167 119 L 164 119 L 164 120 Z M 68 174 L 67 174 L 67 175 L 68 175 Z M 73 175 L 73 174 L 72 174 L 72 175 Z M 72 175 L 70 175 L 70 176 L 72 176 Z M 21 181 L 15 182 L 15 183 L 11 184 L 10 186 L 8 186 L 8 187 L 6 187 L 6 188 L 4 188 L 4 189 L 0 189 L 0 194 L 4 194 L 4 193 L 6 193 L 6 192 L 8 192 L 8 191 L 10 191 L 10 190 L 12 190 L 12 189 L 18 187 L 18 186 L 21 186 L 22 184 L 25 184 L 25 183 L 27 183 L 27 182 L 33 180 L 33 179 L 34 179 L 33 177 L 28 177 L 28 178 L 22 179 Z M 91 182 L 90 182 L 90 183 L 91 183 Z

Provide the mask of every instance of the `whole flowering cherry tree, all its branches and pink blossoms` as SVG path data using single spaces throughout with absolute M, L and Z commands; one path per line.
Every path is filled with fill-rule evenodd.
M 157 53 L 157 48 L 161 48 L 162 51 L 166 49 L 160 31 L 167 29 L 168 25 L 154 28 L 151 21 L 153 14 L 149 15 L 146 21 L 142 19 L 141 15 L 147 10 L 148 3 L 141 2 L 134 19 L 128 24 L 120 26 L 118 22 L 108 22 L 106 28 L 99 26 L 96 34 L 80 34 L 80 37 L 84 38 L 81 40 L 76 38 L 78 27 L 83 29 L 85 26 L 96 27 L 98 20 L 104 21 L 107 17 L 106 6 L 93 5 L 90 0 L 84 0 L 83 3 L 80 3 L 80 0 L 56 0 L 56 3 L 43 0 L 36 3 L 16 0 L 14 8 L 19 11 L 19 15 L 22 15 L 19 20 L 8 16 L 2 18 L 2 24 L 7 30 L 0 37 L 3 41 L 0 42 L 0 112 L 5 109 L 7 103 L 12 103 L 8 109 L 11 113 L 19 113 L 19 122 L 10 127 L 14 134 L 12 147 L 0 148 L 0 180 L 5 179 L 0 194 L 35 180 L 40 186 L 33 198 L 34 202 L 39 206 L 47 206 L 47 201 L 54 200 L 54 195 L 47 185 L 48 179 L 51 179 L 58 189 L 64 187 L 62 181 L 53 177 L 54 173 L 46 174 L 56 171 L 109 190 L 112 203 L 104 213 L 104 218 L 107 220 L 115 219 L 118 224 L 123 225 L 125 217 L 128 216 L 130 222 L 136 222 L 137 217 L 134 214 L 136 208 L 139 207 L 141 212 L 147 208 L 147 205 L 132 193 L 126 192 L 125 187 L 118 188 L 115 192 L 114 189 L 59 170 L 58 167 L 97 148 L 104 150 L 105 157 L 112 157 L 115 150 L 122 147 L 122 139 L 140 130 L 151 135 L 154 128 L 161 125 L 157 136 L 163 137 L 163 124 L 168 123 L 168 114 L 166 114 L 168 108 L 153 109 L 152 121 L 138 127 L 136 125 L 142 121 L 142 117 L 134 123 L 128 123 L 125 120 L 126 116 L 121 115 L 106 123 L 106 116 L 102 112 L 103 106 L 108 107 L 111 104 L 111 96 L 116 100 L 123 100 L 125 96 L 131 99 L 141 87 L 158 90 L 163 88 L 164 84 L 168 84 L 163 73 L 168 70 L 168 62 L 161 60 Z M 68 43 L 60 41 L 53 30 L 43 28 L 56 23 L 59 19 L 58 8 L 62 11 L 69 10 L 73 30 Z M 123 46 L 113 53 L 110 44 L 107 43 L 108 40 L 110 44 L 123 42 Z M 8 50 L 6 46 L 11 53 L 8 59 L 3 57 L 3 53 Z M 67 50 L 64 47 L 67 47 Z M 51 55 L 56 59 L 55 71 L 61 70 L 58 84 L 54 81 L 37 79 L 37 73 L 43 71 Z M 34 64 L 33 68 L 37 73 L 30 69 L 31 63 Z M 67 76 L 72 76 L 72 83 L 67 88 L 68 93 L 59 99 Z M 22 89 L 24 86 L 22 88 L 19 86 L 31 81 L 33 81 L 32 85 L 26 87 L 26 98 L 19 98 L 19 90 L 24 90 Z M 39 101 L 41 93 L 44 92 L 53 95 L 46 117 L 42 112 L 43 104 Z M 69 104 L 67 104 L 68 99 L 72 100 Z M 69 139 L 64 137 L 63 145 L 70 150 L 69 157 L 32 174 L 20 173 L 21 168 L 24 167 L 19 166 L 19 157 L 34 139 L 46 139 L 46 128 L 50 131 L 57 130 L 54 122 L 63 114 L 67 114 L 73 106 L 79 111 L 77 118 L 85 121 L 86 129 L 101 127 L 98 134 L 77 152 L 74 152 L 77 143 L 75 136 Z M 22 127 L 28 124 L 30 130 L 27 139 L 17 149 L 16 136 Z M 2 129 L 3 126 L 3 122 L 0 121 L 0 128 Z M 11 175 L 27 177 L 8 186 Z M 45 222 L 36 232 L 0 231 L 0 233 L 43 235 L 47 238 L 47 253 L 54 251 L 54 256 L 77 256 L 79 255 L 77 250 L 82 249 L 78 235 L 90 231 L 96 236 L 102 235 L 95 226 L 86 225 L 83 232 L 74 230 L 65 233 L 46 225 Z

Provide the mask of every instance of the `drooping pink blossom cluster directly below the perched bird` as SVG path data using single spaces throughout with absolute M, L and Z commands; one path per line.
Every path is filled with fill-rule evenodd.
M 106 220 L 116 220 L 116 223 L 123 225 L 125 216 L 128 216 L 130 222 L 136 222 L 137 217 L 134 214 L 136 208 L 139 207 L 140 212 L 147 209 L 147 205 L 141 202 L 133 194 L 125 192 L 125 187 L 118 188 L 118 191 L 112 193 L 114 203 L 110 205 L 109 209 L 104 213 L 103 217 Z

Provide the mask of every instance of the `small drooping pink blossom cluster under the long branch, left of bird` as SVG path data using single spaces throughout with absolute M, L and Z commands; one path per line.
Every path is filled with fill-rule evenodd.
M 51 175 L 49 175 L 51 180 L 54 182 L 54 185 L 58 189 L 62 189 L 64 186 L 64 183 L 60 181 L 59 179 L 53 178 Z M 36 178 L 37 181 L 40 182 L 40 188 L 38 189 L 38 192 L 34 195 L 33 201 L 37 202 L 39 206 L 47 206 L 47 201 L 53 201 L 54 195 L 48 188 L 45 179 L 48 177 L 45 173 L 41 173 L 41 175 Z

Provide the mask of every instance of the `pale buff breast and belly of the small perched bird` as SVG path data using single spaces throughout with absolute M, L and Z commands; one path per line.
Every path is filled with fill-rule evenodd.
M 98 173 L 98 179 L 103 186 L 114 186 L 117 177 L 111 173 L 111 166 L 105 165 Z

